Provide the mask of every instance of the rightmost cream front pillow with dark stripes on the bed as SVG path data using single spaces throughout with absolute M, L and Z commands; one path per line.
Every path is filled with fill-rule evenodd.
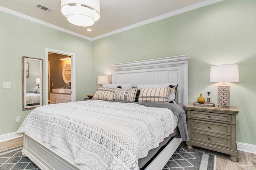
M 170 87 L 142 88 L 140 89 L 138 102 L 168 102 L 171 89 Z

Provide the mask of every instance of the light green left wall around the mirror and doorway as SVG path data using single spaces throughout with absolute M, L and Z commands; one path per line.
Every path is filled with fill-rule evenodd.
M 75 53 L 76 100 L 92 91 L 92 41 L 5 12 L 0 22 L 0 135 L 17 131 L 30 112 L 22 111 L 22 56 L 45 59 L 45 48 Z M 11 82 L 11 88 L 2 88 L 3 82 Z

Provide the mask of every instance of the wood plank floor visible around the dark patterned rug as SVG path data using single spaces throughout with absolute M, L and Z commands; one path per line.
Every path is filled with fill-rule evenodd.
M 4 141 L 0 143 L 0 152 L 14 147 L 23 145 L 22 137 Z M 182 142 L 180 147 L 185 148 L 186 144 Z M 238 162 L 233 162 L 229 159 L 228 154 L 214 152 L 207 149 L 193 147 L 193 150 L 216 155 L 216 170 L 256 170 L 256 154 L 238 151 Z

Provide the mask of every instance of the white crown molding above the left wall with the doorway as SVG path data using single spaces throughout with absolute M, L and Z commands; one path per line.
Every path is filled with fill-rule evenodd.
M 81 38 L 88 39 L 88 40 L 92 41 L 92 38 L 91 38 L 91 37 L 87 37 L 87 36 L 85 36 L 85 35 L 81 35 L 81 34 L 79 34 L 79 33 L 73 32 L 73 31 L 69 31 L 69 30 L 64 29 L 64 28 L 62 28 L 62 27 L 58 27 L 58 26 L 56 26 L 56 25 L 52 25 L 52 24 L 47 23 L 47 22 L 45 22 L 45 21 L 38 20 L 38 19 L 36 19 L 36 18 L 33 18 L 33 17 L 27 16 L 27 15 L 21 14 L 21 13 L 19 13 L 19 12 L 10 10 L 10 9 L 8 9 L 8 8 L 4 8 L 4 7 L 2 7 L 2 6 L 0 6 L 0 11 L 6 12 L 6 13 L 8 13 L 8 14 L 11 14 L 11 15 L 14 15 L 14 16 L 17 16 L 17 17 L 20 17 L 20 18 L 23 18 L 23 19 L 25 19 L 25 20 L 29 20 L 29 21 L 32 21 L 32 22 L 35 22 L 35 23 L 39 23 L 39 24 L 41 24 L 41 25 L 44 25 L 44 26 L 46 26 L 46 27 L 50 27 L 50 28 L 53 28 L 53 29 L 62 31 L 62 32 L 64 32 L 64 33 L 68 33 L 68 34 L 75 35 L 75 36 L 77 36 L 77 37 L 81 37 Z

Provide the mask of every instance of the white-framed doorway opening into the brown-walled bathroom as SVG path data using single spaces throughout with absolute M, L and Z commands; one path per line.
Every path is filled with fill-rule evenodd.
M 75 54 L 46 48 L 45 55 L 46 55 L 45 56 L 45 64 L 46 64 L 45 66 L 46 68 L 45 69 L 45 85 L 46 85 L 45 86 L 45 92 L 46 92 L 45 103 L 49 104 L 50 92 L 52 92 L 52 89 L 56 90 L 56 89 L 62 89 L 62 88 L 71 89 L 69 91 L 71 93 L 71 102 L 75 102 L 76 101 Z M 48 57 L 50 57 L 50 59 Z M 70 76 L 67 76 L 68 71 L 69 71 L 68 74 L 70 74 L 70 69 L 68 70 L 64 69 L 64 67 L 68 68 L 67 67 L 68 64 L 70 64 L 71 66 L 71 78 Z M 66 78 L 68 78 L 69 80 L 66 80 Z

